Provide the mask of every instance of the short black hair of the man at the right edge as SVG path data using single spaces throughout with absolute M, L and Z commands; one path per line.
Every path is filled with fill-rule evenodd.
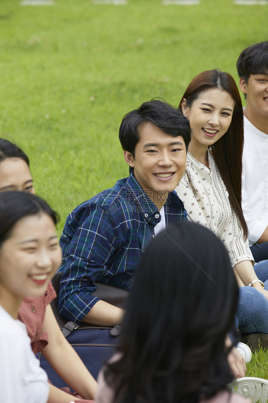
M 245 83 L 248 83 L 251 74 L 268 74 L 268 41 L 245 48 L 236 67 L 239 77 L 243 77 Z

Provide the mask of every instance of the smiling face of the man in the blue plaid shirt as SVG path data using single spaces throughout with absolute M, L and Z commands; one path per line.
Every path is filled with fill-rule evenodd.
M 168 195 L 185 172 L 184 139 L 182 136 L 172 137 L 150 122 L 139 126 L 139 138 L 134 158 L 125 150 L 125 160 L 134 168 L 134 176 L 145 193 L 155 190 Z

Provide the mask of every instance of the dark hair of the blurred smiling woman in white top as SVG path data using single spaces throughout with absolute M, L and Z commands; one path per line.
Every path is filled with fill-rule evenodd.
M 29 192 L 0 192 L 0 247 L 12 233 L 12 228 L 21 218 L 45 213 L 58 222 L 57 213 L 40 197 Z

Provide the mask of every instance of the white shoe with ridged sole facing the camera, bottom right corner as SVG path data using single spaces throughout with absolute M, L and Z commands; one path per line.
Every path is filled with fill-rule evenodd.
M 237 395 L 251 399 L 252 403 L 268 401 L 268 380 L 262 378 L 244 377 L 235 379 L 228 385 L 231 392 Z

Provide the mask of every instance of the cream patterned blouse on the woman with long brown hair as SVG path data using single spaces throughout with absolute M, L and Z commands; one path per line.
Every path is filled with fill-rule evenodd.
M 209 151 L 208 154 L 209 168 L 187 153 L 186 171 L 175 190 L 184 203 L 188 220 L 208 226 L 218 235 L 233 266 L 244 260 L 254 263 L 215 160 Z

